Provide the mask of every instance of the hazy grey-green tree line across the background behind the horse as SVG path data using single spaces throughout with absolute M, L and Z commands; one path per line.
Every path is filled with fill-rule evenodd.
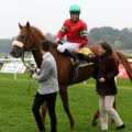
M 55 35 L 47 33 L 45 36 L 55 41 Z M 10 53 L 12 37 L 0 40 L 0 53 Z M 110 26 L 94 28 L 89 31 L 89 44 L 106 41 L 118 50 L 132 50 L 132 29 L 124 28 L 122 30 L 113 29 Z

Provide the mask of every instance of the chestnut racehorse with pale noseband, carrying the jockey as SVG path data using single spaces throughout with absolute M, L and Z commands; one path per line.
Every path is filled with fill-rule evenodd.
M 29 22 L 24 26 L 19 24 L 19 28 L 20 28 L 20 33 L 16 40 L 13 42 L 11 55 L 13 57 L 22 57 L 24 52 L 31 51 L 37 67 L 41 67 L 42 64 L 42 54 L 40 50 L 41 42 L 45 41 L 46 37 L 37 28 L 31 26 Z M 59 95 L 63 101 L 64 109 L 68 116 L 70 128 L 73 128 L 75 121 L 69 110 L 68 95 L 67 95 L 67 86 L 73 85 L 72 81 L 74 78 L 73 64 L 68 57 L 64 56 L 63 54 L 56 51 L 56 47 L 54 46 L 53 42 L 50 43 L 51 43 L 51 53 L 55 57 L 57 64 Z M 92 44 L 91 46 L 89 46 L 89 48 L 92 51 L 95 56 L 98 56 L 98 46 L 99 46 L 98 44 Z M 121 62 L 123 64 L 130 80 L 132 80 L 132 69 L 127 57 L 120 52 L 114 52 L 113 55 L 118 63 Z M 90 78 L 94 73 L 94 69 L 95 69 L 95 64 L 80 67 L 78 69 L 78 78 L 76 82 L 81 82 Z M 42 113 L 45 114 L 44 111 L 42 111 Z M 98 114 L 99 112 L 96 113 L 92 123 L 96 122 Z

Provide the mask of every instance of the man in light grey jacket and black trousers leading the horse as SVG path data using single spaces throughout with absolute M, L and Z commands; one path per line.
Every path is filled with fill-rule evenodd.
M 44 101 L 46 101 L 51 119 L 51 132 L 56 132 L 55 102 L 58 91 L 56 62 L 53 55 L 50 53 L 48 42 L 42 43 L 41 52 L 43 54 L 41 69 L 36 69 L 36 72 L 32 75 L 32 77 L 40 84 L 33 102 L 32 111 L 40 132 L 45 132 L 45 127 L 40 114 L 40 107 Z

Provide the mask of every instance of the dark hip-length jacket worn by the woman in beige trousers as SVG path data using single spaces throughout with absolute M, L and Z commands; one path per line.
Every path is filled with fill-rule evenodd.
M 96 62 L 98 64 L 94 73 L 94 78 L 97 80 L 96 90 L 98 95 L 101 96 L 117 95 L 114 77 L 119 74 L 119 69 L 112 55 L 105 55 L 96 59 L 94 58 L 94 61 L 91 62 Z M 100 77 L 103 77 L 106 81 L 100 82 L 99 81 Z

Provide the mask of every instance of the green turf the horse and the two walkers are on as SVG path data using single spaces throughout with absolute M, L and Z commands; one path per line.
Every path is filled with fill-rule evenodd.
M 30 95 L 29 86 L 31 85 Z M 119 94 L 117 110 L 124 121 L 127 129 L 132 132 L 132 84 L 128 79 L 118 79 Z M 37 82 L 29 80 L 29 75 L 0 74 L 0 132 L 37 132 L 31 108 Z M 95 91 L 95 80 L 89 79 L 86 85 L 78 84 L 68 88 L 69 106 L 75 119 L 73 132 L 101 132 L 100 124 L 91 127 L 92 117 L 98 109 L 98 97 Z M 58 132 L 69 132 L 69 121 L 63 109 L 59 96 L 56 103 Z M 50 119 L 46 116 L 46 130 L 50 132 Z M 109 131 L 114 132 L 116 124 L 109 122 Z

